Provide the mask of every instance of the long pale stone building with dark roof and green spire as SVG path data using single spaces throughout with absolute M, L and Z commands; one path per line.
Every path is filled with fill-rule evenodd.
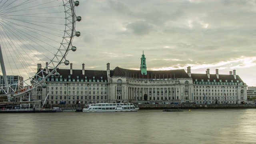
M 47 64 L 46 64 L 47 65 Z M 41 69 L 38 64 L 38 70 Z M 142 54 L 140 70 L 116 67 L 110 70 L 57 69 L 58 78 L 51 75 L 43 86 L 38 86 L 34 99 L 52 104 L 81 104 L 91 102 L 194 102 L 196 104 L 236 104 L 247 100 L 247 85 L 236 75 L 229 74 L 192 74 L 181 70 L 147 70 L 146 58 Z M 44 86 L 45 87 L 45 86 Z

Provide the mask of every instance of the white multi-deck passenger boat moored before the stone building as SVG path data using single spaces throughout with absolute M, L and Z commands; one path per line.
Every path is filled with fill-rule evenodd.
M 98 103 L 86 104 L 83 112 L 136 112 L 140 108 L 136 108 L 133 103 Z

